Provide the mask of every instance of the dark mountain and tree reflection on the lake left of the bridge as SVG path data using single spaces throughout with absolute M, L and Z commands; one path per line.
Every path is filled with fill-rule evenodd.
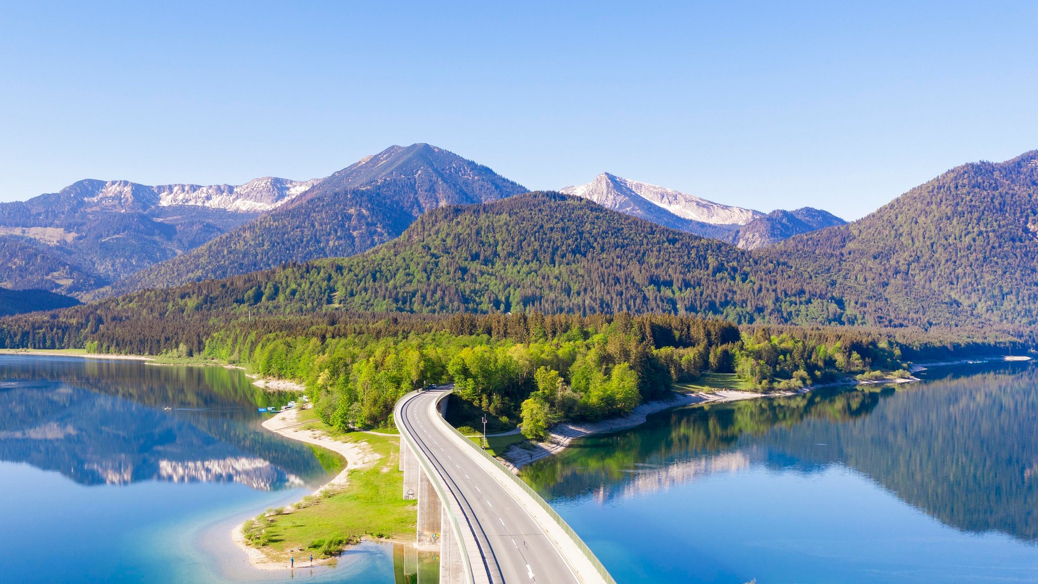
M 308 446 L 258 427 L 256 408 L 291 395 L 257 388 L 240 370 L 0 356 L 0 460 L 82 484 L 279 490 L 328 474 Z

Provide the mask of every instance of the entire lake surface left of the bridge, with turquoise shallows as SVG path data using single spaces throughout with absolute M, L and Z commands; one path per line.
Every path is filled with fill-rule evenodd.
M 0 582 L 393 583 L 386 545 L 289 574 L 230 543 L 339 470 L 260 426 L 291 398 L 222 367 L 0 355 Z

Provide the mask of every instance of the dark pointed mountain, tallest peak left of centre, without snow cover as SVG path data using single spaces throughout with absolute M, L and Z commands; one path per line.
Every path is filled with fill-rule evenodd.
M 345 257 L 385 243 L 426 211 L 525 192 L 489 168 L 429 144 L 392 146 L 319 182 L 299 199 L 90 298 L 223 278 L 286 262 Z

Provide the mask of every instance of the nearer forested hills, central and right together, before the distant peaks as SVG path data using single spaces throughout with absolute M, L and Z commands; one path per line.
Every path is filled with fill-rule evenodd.
M 864 219 L 757 250 L 580 197 L 526 193 L 431 210 L 399 238 L 352 257 L 143 290 L 64 313 L 71 323 L 94 314 L 113 327 L 137 326 L 147 313 L 167 327 L 188 314 L 208 322 L 247 313 L 528 310 L 1033 336 L 1038 151 L 954 168 Z M 82 325 L 69 326 L 51 334 Z

